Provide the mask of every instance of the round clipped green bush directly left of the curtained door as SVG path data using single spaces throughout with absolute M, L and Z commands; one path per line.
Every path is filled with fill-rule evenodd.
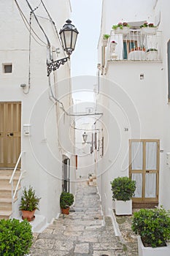
M 115 178 L 110 183 L 112 185 L 112 200 L 131 200 L 136 189 L 136 181 L 128 177 Z

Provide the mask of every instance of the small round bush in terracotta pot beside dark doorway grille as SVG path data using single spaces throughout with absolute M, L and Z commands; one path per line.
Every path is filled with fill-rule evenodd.
M 74 203 L 74 195 L 69 192 L 62 192 L 60 196 L 60 206 L 62 214 L 69 214 L 69 206 Z

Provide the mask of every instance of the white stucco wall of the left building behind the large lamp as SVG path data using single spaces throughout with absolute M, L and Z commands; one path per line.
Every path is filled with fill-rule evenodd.
M 39 23 L 50 40 L 51 46 L 61 48 L 58 36 L 55 34 L 53 23 L 49 20 L 45 9 L 39 1 L 29 1 L 34 8 Z M 50 12 L 57 29 L 61 29 L 66 19 L 69 18 L 70 4 L 69 1 L 44 1 L 47 10 Z M 26 1 L 18 0 L 21 10 L 29 20 L 30 10 Z M 62 10 L 62 12 L 61 12 Z M 34 16 L 32 16 L 31 26 L 38 37 L 32 31 L 36 41 L 31 37 L 30 52 L 30 91 L 28 94 L 23 93 L 20 84 L 25 83 L 28 91 L 28 64 L 29 64 L 29 32 L 26 25 L 18 12 L 15 1 L 0 2 L 0 101 L 1 102 L 22 102 L 22 129 L 23 124 L 31 124 L 31 136 L 26 137 L 21 132 L 21 150 L 26 151 L 22 161 L 22 169 L 26 170 L 25 178 L 22 180 L 22 186 L 33 186 L 36 195 L 42 197 L 40 208 L 36 214 L 42 214 L 50 222 L 60 212 L 59 196 L 61 194 L 61 177 L 62 177 L 62 155 L 66 151 L 73 151 L 71 140 L 67 140 L 64 131 L 69 131 L 69 116 L 63 116 L 60 105 L 54 105 L 51 99 L 49 89 L 49 78 L 47 78 L 47 40 L 39 29 Z M 41 17 L 39 17 L 41 16 Z M 46 45 L 45 45 L 46 44 Z M 63 51 L 56 57 L 63 58 Z M 12 63 L 12 73 L 4 74 L 2 64 Z M 50 83 L 53 88 L 55 97 L 64 98 L 66 110 L 69 108 L 72 96 L 70 95 L 71 83 L 69 82 L 70 66 L 66 63 L 50 75 Z M 59 84 L 64 80 L 65 85 Z M 56 83 L 57 82 L 57 83 Z M 69 93 L 69 94 L 68 94 Z M 64 121 L 63 121 L 64 118 Z M 58 127 L 58 120 L 61 120 L 61 126 Z M 72 133 L 74 136 L 74 133 Z M 73 138 L 74 139 L 74 138 Z M 59 143 L 60 141 L 62 143 Z M 72 179 L 74 179 L 74 155 L 71 157 Z M 71 185 L 72 191 L 74 184 Z M 18 215 L 18 212 L 16 212 Z

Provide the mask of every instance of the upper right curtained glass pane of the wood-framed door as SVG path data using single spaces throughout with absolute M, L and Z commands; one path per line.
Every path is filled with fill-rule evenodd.
M 146 142 L 146 170 L 157 169 L 157 143 Z

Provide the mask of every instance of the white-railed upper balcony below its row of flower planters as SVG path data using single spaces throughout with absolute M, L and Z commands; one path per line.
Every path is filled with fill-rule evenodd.
M 115 41 L 115 49 L 111 46 Z M 144 34 L 141 29 L 130 29 L 128 34 L 112 30 L 107 44 L 106 61 L 161 61 L 161 31 Z

